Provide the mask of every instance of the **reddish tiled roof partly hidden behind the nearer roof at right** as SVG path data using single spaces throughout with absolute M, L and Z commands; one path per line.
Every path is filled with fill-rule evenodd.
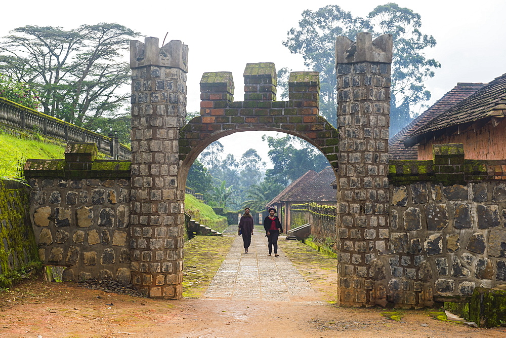
M 423 127 L 432 119 L 441 115 L 445 110 L 453 107 L 458 102 L 472 95 L 478 89 L 483 87 L 482 83 L 464 83 L 459 82 L 452 90 L 444 94 L 429 109 L 424 111 L 406 127 L 401 129 L 388 141 L 388 155 L 391 160 L 417 160 L 418 146 L 413 145 L 409 148 L 404 147 L 403 140 L 408 138 L 415 130 Z

